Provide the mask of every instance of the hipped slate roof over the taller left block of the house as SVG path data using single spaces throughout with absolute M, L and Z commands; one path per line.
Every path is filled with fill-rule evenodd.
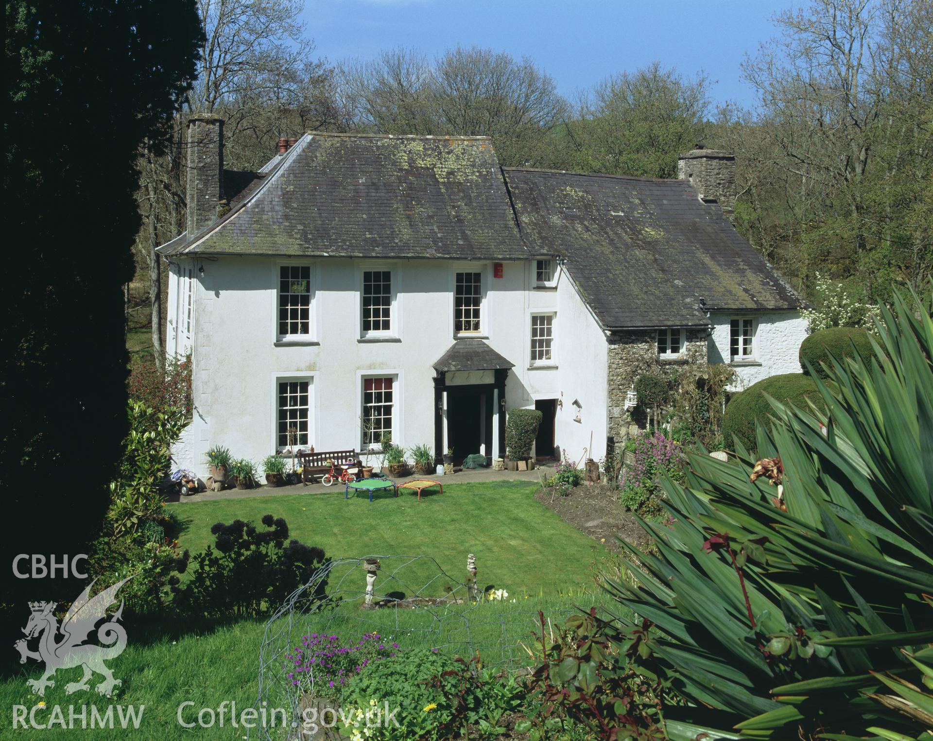
M 488 137 L 309 133 L 280 159 L 209 231 L 162 254 L 529 257 Z

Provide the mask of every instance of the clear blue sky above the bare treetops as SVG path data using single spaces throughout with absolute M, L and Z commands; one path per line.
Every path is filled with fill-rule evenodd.
M 715 101 L 754 104 L 745 53 L 774 34 L 791 0 L 305 0 L 304 21 L 331 62 L 415 46 L 433 56 L 457 44 L 527 55 L 572 97 L 606 74 L 661 60 L 703 69 Z

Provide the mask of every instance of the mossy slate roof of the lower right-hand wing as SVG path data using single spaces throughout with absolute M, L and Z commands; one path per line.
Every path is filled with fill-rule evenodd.
M 686 180 L 506 168 L 522 238 L 558 254 L 606 329 L 709 324 L 700 308 L 803 304 Z

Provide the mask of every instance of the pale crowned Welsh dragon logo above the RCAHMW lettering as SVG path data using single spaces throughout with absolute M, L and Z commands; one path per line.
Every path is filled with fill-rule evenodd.
M 127 581 L 129 579 L 124 579 L 93 597 L 90 596 L 91 587 L 94 586 L 94 582 L 91 581 L 88 588 L 68 608 L 61 627 L 53 614 L 57 603 L 29 603 L 32 614 L 26 627 L 22 629 L 26 637 L 14 643 L 13 648 L 20 652 L 20 664 L 25 664 L 26 659 L 46 663 L 46 671 L 41 678 L 27 679 L 27 683 L 36 694 L 44 695 L 47 687 L 55 686 L 51 677 L 58 669 L 71 669 L 76 666 L 84 667 L 84 676 L 80 681 L 65 685 L 64 689 L 68 694 L 78 690 L 90 690 L 88 680 L 95 672 L 104 677 L 104 681 L 96 687 L 99 694 L 109 697 L 114 687 L 121 684 L 104 665 L 104 661 L 117 658 L 126 648 L 126 631 L 118 623 L 123 613 L 123 602 L 120 601 L 119 608 L 113 615 L 107 615 L 107 608 L 117 601 L 117 592 Z M 97 623 L 104 620 L 106 622 L 97 627 Z M 100 646 L 86 643 L 95 628 L 97 639 L 102 644 Z M 59 634 L 63 638 L 56 641 Z M 31 651 L 27 641 L 35 636 L 39 636 L 39 650 Z

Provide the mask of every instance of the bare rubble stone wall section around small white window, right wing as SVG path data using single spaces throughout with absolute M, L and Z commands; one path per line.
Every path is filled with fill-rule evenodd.
M 658 357 L 658 333 L 655 329 L 613 332 L 608 338 L 608 426 L 606 434 L 620 445 L 638 430 L 625 409 L 625 395 L 634 380 L 644 373 L 671 374 L 689 364 L 706 363 L 706 329 L 688 329 L 683 358 L 662 360 Z

